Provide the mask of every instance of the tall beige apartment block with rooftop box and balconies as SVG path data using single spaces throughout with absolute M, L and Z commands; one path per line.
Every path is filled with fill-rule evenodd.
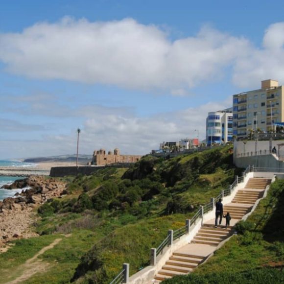
M 283 86 L 276 80 L 261 81 L 261 89 L 233 95 L 233 135 L 246 137 L 257 130 L 269 132 L 284 121 Z

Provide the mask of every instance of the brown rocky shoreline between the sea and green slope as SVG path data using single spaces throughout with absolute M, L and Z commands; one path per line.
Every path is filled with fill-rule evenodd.
M 24 189 L 27 187 L 29 189 Z M 45 176 L 30 176 L 2 188 L 24 190 L 15 198 L 0 201 L 0 246 L 13 239 L 37 236 L 31 230 L 37 218 L 35 209 L 66 192 L 64 182 Z

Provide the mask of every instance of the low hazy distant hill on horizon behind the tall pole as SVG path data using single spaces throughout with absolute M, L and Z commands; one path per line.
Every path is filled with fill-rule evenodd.
M 91 162 L 93 159 L 92 155 L 78 155 L 78 161 L 80 163 Z M 61 156 L 50 156 L 50 157 L 35 157 L 24 159 L 25 163 L 42 163 L 42 162 L 74 162 L 76 161 L 76 154 L 72 155 L 61 155 Z

